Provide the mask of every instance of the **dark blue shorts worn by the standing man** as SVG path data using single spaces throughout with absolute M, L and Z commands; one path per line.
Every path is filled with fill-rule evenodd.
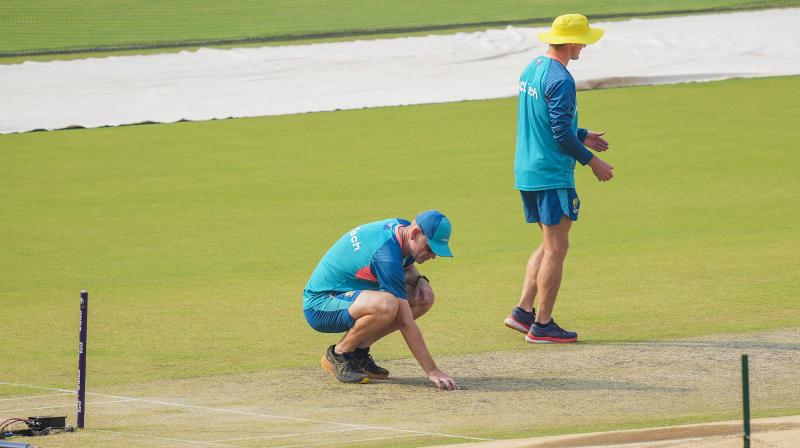
M 564 215 L 570 221 L 578 220 L 581 201 L 574 188 L 520 190 L 520 194 L 527 222 L 540 222 L 546 226 L 554 226 L 561 222 L 561 217 Z

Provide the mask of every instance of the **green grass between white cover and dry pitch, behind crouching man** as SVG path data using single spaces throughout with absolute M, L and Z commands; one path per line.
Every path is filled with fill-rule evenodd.
M 797 326 L 800 78 L 579 93 L 616 178 L 582 199 L 556 317 L 584 343 Z M 515 99 L 0 136 L 0 381 L 92 386 L 312 366 L 303 286 L 356 224 L 439 208 L 435 355 L 502 326 L 539 241 L 513 189 Z M 394 335 L 382 358 L 409 357 Z

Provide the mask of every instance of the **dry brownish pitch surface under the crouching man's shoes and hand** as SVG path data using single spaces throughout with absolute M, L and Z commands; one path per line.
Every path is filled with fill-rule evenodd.
M 519 339 L 524 345 L 521 334 Z M 732 420 L 741 415 L 742 353 L 750 355 L 754 414 L 797 413 L 800 328 L 440 357 L 439 366 L 463 387 L 455 392 L 433 388 L 411 359 L 381 362 L 392 371 L 391 380 L 367 385 L 340 384 L 321 368 L 311 368 L 90 388 L 86 429 L 14 441 L 41 448 L 400 447 L 537 437 L 564 432 L 558 430 L 563 427 L 605 431 L 650 426 L 657 420 L 693 423 L 700 415 Z M 380 361 L 379 346 L 373 354 Z M 0 392 L 5 392 L 2 418 L 66 414 L 74 424 L 74 395 L 6 383 L 0 383 Z M 800 425 L 797 419 L 787 422 L 760 428 L 791 430 Z M 756 437 L 758 431 L 756 427 Z M 673 439 L 682 439 L 677 445 L 641 446 L 683 446 L 686 437 L 698 437 L 696 431 L 673 432 Z M 718 428 L 706 435 L 724 436 Z M 731 446 L 740 443 L 735 437 L 725 440 L 737 443 Z M 764 446 L 791 446 L 772 440 Z M 514 443 L 504 446 L 566 446 Z M 589 442 L 582 443 L 572 446 Z M 704 446 L 702 438 L 691 443 Z

